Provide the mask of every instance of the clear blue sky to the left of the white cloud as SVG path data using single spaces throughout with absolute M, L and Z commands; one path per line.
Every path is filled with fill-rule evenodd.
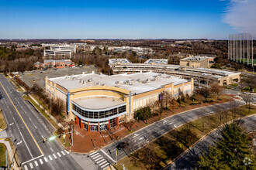
M 220 0 L 0 0 L 0 39 L 227 39 Z

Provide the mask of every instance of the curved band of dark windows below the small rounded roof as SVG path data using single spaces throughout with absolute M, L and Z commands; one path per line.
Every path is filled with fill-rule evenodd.
M 121 114 L 123 112 L 126 112 L 126 105 L 121 107 L 116 107 L 110 110 L 104 110 L 104 111 L 88 111 L 88 110 L 81 109 L 75 104 L 72 104 L 72 106 L 73 106 L 73 110 L 75 110 L 78 114 L 81 114 L 81 116 L 92 118 L 92 119 L 110 117 L 116 114 Z

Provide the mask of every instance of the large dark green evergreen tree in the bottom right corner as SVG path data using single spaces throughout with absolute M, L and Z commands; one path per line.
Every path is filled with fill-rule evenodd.
M 220 132 L 216 147 L 210 146 L 198 162 L 199 169 L 255 169 L 252 140 L 237 124 L 227 124 Z M 244 164 L 250 158 L 250 164 Z

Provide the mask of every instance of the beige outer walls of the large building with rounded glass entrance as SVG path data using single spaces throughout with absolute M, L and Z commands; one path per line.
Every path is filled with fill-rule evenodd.
M 140 107 L 145 107 L 150 103 L 158 100 L 159 94 L 162 91 L 168 91 L 173 97 L 178 97 L 178 93 L 180 92 L 187 92 L 189 95 L 191 95 L 194 86 L 193 83 L 193 79 L 187 83 L 181 83 L 176 86 L 174 83 L 170 83 L 157 90 L 151 90 L 145 93 L 133 94 L 130 96 L 129 90 L 121 89 L 118 87 L 83 87 L 79 89 L 66 90 L 46 78 L 46 91 L 49 93 L 48 90 L 50 90 L 50 92 L 52 92 L 50 93 L 52 97 L 61 98 L 61 100 L 64 100 L 65 104 L 69 102 L 70 107 L 69 110 L 67 110 L 69 121 L 71 121 L 71 119 L 74 120 L 75 117 L 71 112 L 71 100 L 90 96 L 108 96 L 121 98 L 124 102 L 126 102 L 126 115 L 123 117 L 125 117 L 125 121 L 131 121 L 133 120 L 134 110 L 137 110 Z M 67 93 L 69 93 L 69 100 L 67 100 Z

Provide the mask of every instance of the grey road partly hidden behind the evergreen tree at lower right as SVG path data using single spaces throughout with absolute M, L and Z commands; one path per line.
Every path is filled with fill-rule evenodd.
M 245 117 L 242 119 L 242 127 L 246 128 L 247 131 L 256 131 L 256 116 L 252 115 L 250 117 Z M 206 151 L 206 148 L 209 145 L 214 145 L 214 141 L 219 138 L 220 135 L 218 131 L 214 131 L 212 134 L 207 136 L 204 140 L 200 141 L 191 151 L 187 152 L 181 158 L 178 158 L 173 164 L 168 165 L 165 170 L 167 169 L 195 169 L 195 164 L 197 161 L 197 156 L 202 152 Z

